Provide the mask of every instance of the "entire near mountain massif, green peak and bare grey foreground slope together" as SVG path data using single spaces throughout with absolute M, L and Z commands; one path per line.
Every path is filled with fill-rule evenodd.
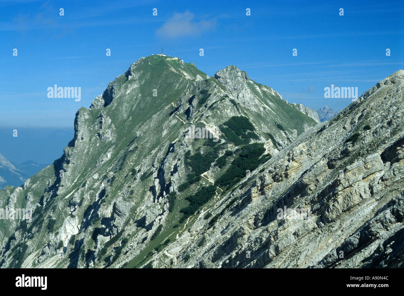
M 0 220 L 0 264 L 401 266 L 403 74 L 316 124 L 235 66 L 141 58 L 78 110 L 60 159 L 0 190 L 36 208 Z

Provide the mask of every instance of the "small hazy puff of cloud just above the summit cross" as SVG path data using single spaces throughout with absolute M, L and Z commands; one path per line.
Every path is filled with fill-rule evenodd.
M 165 38 L 178 38 L 197 36 L 215 29 L 215 19 L 195 21 L 194 14 L 186 10 L 184 13 L 175 13 L 156 31 L 156 34 Z

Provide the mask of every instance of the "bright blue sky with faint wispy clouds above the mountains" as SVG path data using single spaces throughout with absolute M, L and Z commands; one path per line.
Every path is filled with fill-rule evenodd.
M 325 99 L 324 87 L 361 95 L 404 68 L 403 3 L 3 0 L 0 127 L 73 129 L 81 106 L 162 47 L 209 76 L 236 65 L 289 103 L 342 109 L 351 99 Z M 81 87 L 81 101 L 49 99 L 55 84 Z

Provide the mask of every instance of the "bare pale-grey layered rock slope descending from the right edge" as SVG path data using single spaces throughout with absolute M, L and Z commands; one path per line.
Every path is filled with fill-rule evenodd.
M 403 95 L 400 70 L 300 135 L 218 203 L 214 227 L 200 219 L 167 247 L 176 266 L 402 267 Z M 310 217 L 277 219 L 284 206 Z

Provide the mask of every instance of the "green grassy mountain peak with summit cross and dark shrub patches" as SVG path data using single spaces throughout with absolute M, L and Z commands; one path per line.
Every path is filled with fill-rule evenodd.
M 0 221 L 1 266 L 143 266 L 314 125 L 234 66 L 208 77 L 141 58 L 78 110 L 60 159 L 0 190 L 3 207 L 35 208 L 31 223 Z

